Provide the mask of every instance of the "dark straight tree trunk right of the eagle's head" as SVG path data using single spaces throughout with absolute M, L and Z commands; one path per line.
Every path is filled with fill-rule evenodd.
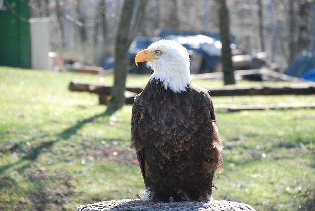
M 235 84 L 234 70 L 231 54 L 231 36 L 229 29 L 229 16 L 225 0 L 219 0 L 219 24 L 222 42 L 222 64 L 224 84 Z

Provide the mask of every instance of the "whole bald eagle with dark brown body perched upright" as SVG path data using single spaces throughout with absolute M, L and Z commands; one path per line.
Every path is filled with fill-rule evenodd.
M 206 89 L 190 82 L 190 59 L 178 42 L 160 40 L 135 63 L 154 73 L 132 108 L 131 142 L 146 193 L 141 200 L 210 200 L 222 144 Z

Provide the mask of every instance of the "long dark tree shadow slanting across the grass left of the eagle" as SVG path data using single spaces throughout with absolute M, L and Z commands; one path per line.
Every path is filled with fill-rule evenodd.
M 94 116 L 91 116 L 87 119 L 84 119 L 82 121 L 79 121 L 78 123 L 76 123 L 75 125 L 63 130 L 61 133 L 56 135 L 56 139 L 54 140 L 50 140 L 50 141 L 44 141 L 41 142 L 39 145 L 32 147 L 28 152 L 26 152 L 26 154 L 24 156 L 22 156 L 18 161 L 11 163 L 11 164 L 7 164 L 4 166 L 0 167 L 0 173 L 6 171 L 7 169 L 14 167 L 18 164 L 21 164 L 23 161 L 29 160 L 29 161 L 35 161 L 38 156 L 43 153 L 46 149 L 50 149 L 56 142 L 60 141 L 60 140 L 67 140 L 69 139 L 71 136 L 75 135 L 78 130 L 80 128 L 82 128 L 85 124 L 93 122 L 95 119 L 100 118 L 100 117 L 106 117 L 106 116 L 111 116 L 112 114 L 114 114 L 117 110 L 106 110 L 104 113 L 100 113 L 100 114 L 96 114 Z M 44 135 L 42 137 L 40 137 L 41 139 L 44 139 L 45 137 L 47 137 L 48 135 Z M 34 139 L 38 139 L 38 137 L 36 138 L 32 138 L 32 140 Z M 28 140 L 28 141 L 23 141 L 20 142 L 18 144 L 15 144 L 10 150 L 11 151 L 16 151 L 19 150 L 19 148 L 21 147 L 22 144 L 25 144 L 26 142 L 32 142 L 32 140 Z M 25 166 L 29 166 L 29 164 L 24 165 L 23 167 L 21 167 L 22 169 L 25 169 Z

